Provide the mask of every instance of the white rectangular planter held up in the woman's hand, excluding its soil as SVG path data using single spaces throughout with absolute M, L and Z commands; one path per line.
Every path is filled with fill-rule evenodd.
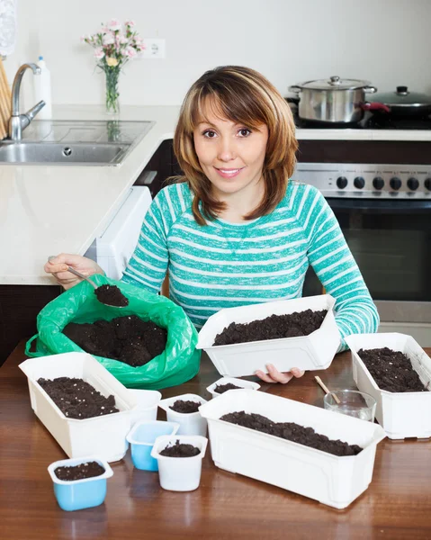
M 266 364 L 273 364 L 281 372 L 290 371 L 292 367 L 302 370 L 326 369 L 340 345 L 340 335 L 333 312 L 335 302 L 329 294 L 320 294 L 220 310 L 211 315 L 203 325 L 196 348 L 205 350 L 220 375 L 231 377 L 253 375 L 256 370 L 268 373 Z M 212 345 L 217 334 L 231 322 L 247 323 L 265 319 L 270 315 L 285 315 L 308 309 L 328 310 L 321 327 L 309 336 L 216 347 Z

